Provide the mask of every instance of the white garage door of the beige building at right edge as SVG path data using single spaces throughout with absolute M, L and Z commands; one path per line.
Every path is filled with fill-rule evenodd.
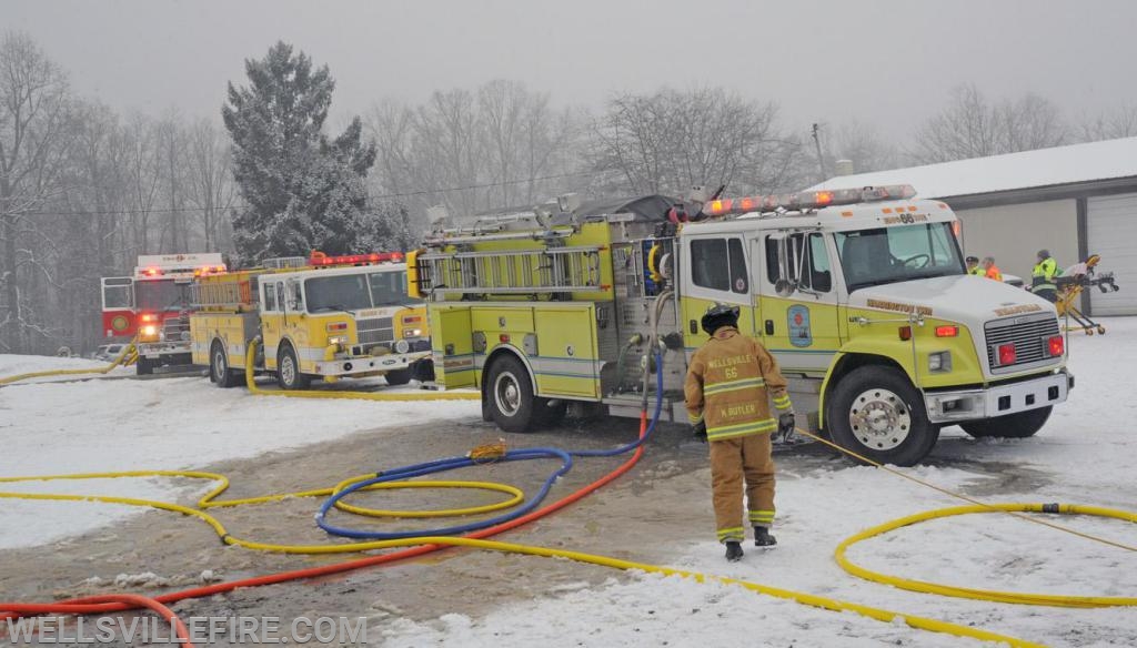
M 1137 193 L 1090 198 L 1088 207 L 1089 254 L 1102 256 L 1098 269 L 1117 275 L 1121 288 L 1089 289 L 1093 313 L 1137 315 Z

